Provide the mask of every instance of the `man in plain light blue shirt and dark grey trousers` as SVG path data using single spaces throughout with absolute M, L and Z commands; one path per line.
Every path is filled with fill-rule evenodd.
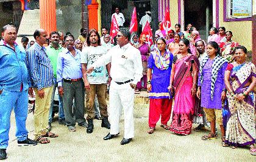
M 64 40 L 66 49 L 58 57 L 57 82 L 59 94 L 63 99 L 66 125 L 70 132 L 75 132 L 76 121 L 79 126 L 87 127 L 84 118 L 85 90 L 80 65 L 80 51 L 74 48 L 74 36 L 66 35 Z M 76 116 L 76 121 L 74 116 Z

